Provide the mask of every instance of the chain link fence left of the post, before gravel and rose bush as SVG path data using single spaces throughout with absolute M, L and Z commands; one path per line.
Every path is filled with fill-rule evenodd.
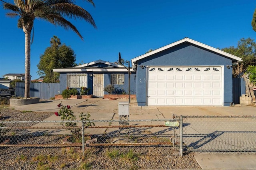
M 165 121 L 135 120 L 99 121 L 86 127 L 89 121 L 0 121 L 0 149 L 70 148 L 77 147 L 84 156 L 89 148 L 140 148 L 138 153 L 162 147 L 157 154 L 179 152 L 178 127 L 168 127 Z M 73 125 L 76 126 L 65 126 Z M 141 148 L 145 148 L 144 151 Z M 151 149 L 150 149 L 151 148 Z M 166 148 L 166 149 L 163 149 Z M 148 150 L 149 149 L 149 150 Z M 134 150 L 136 152 L 136 149 Z

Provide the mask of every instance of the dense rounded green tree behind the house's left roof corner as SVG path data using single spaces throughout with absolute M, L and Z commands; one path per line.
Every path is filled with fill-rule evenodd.
M 38 75 L 44 76 L 44 82 L 54 83 L 59 79 L 60 73 L 53 72 L 54 68 L 67 68 L 75 66 L 76 55 L 71 47 L 61 45 L 60 39 L 53 36 L 40 61 L 37 64 Z

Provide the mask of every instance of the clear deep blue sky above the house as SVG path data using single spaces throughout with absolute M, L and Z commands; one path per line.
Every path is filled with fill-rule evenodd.
M 74 50 L 76 63 L 114 62 L 119 52 L 130 60 L 184 37 L 215 48 L 236 47 L 241 38 L 256 39 L 251 26 L 255 0 L 94 0 L 94 4 L 95 8 L 78 2 L 90 12 L 97 29 L 85 21 L 72 21 L 84 41 L 71 30 L 34 21 L 32 80 L 39 78 L 36 65 L 53 35 Z M 6 12 L 1 6 L 0 77 L 25 72 L 24 33 L 17 28 L 18 18 L 8 18 Z

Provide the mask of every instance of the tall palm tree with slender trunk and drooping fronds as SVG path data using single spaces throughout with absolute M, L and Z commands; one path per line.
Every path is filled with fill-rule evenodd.
M 94 6 L 93 0 L 86 0 Z M 25 33 L 25 95 L 30 97 L 30 44 L 31 32 L 36 18 L 48 21 L 54 25 L 60 25 L 64 29 L 73 30 L 81 39 L 82 35 L 76 27 L 66 18 L 85 20 L 94 28 L 96 25 L 92 16 L 82 7 L 74 4 L 74 0 L 14 0 L 14 4 L 4 2 L 3 8 L 12 12 L 7 16 L 18 16 L 18 27 Z

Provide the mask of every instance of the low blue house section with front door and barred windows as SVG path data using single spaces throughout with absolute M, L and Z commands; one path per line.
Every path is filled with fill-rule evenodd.
M 69 88 L 76 88 L 80 91 L 81 87 L 90 88 L 89 94 L 96 97 L 103 97 L 104 87 L 113 84 L 116 91 L 128 94 L 128 70 L 121 65 L 98 60 L 91 63 L 82 64 L 72 68 L 53 69 L 60 72 L 60 94 Z M 135 71 L 130 69 L 130 90 L 135 94 Z

